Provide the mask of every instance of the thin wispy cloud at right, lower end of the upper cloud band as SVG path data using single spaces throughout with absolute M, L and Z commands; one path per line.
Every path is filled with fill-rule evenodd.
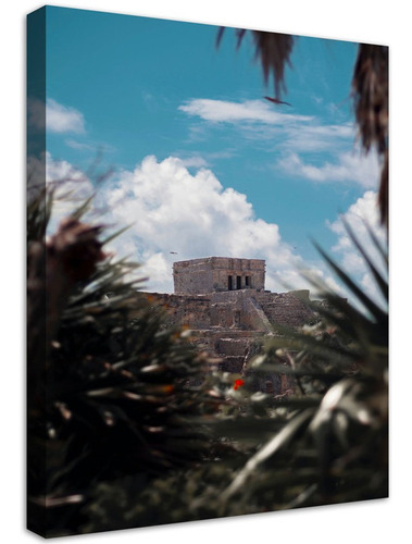
M 364 188 L 375 187 L 379 175 L 377 154 L 374 152 L 364 154 L 354 150 L 339 153 L 336 162 L 324 162 L 321 165 L 304 162 L 298 153 L 291 152 L 283 157 L 277 166 L 296 177 L 311 182 L 349 182 Z

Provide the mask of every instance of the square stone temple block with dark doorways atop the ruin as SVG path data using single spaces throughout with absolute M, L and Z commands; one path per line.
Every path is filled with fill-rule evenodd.
M 175 262 L 173 280 L 176 295 L 202 295 L 225 290 L 264 289 L 263 259 L 208 257 Z

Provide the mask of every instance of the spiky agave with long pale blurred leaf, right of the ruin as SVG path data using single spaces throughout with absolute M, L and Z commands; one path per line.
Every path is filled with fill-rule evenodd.
M 346 227 L 388 301 L 387 277 Z M 261 511 L 388 495 L 388 312 L 319 249 L 359 304 L 310 277 L 325 300 L 310 302 L 319 323 L 278 330 L 251 361 L 255 371 L 288 373 L 296 390 L 271 400 L 274 432 L 220 494 L 222 512 L 234 500 Z

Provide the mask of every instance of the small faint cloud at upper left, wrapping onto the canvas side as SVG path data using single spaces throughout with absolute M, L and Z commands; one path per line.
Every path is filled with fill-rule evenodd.
M 85 133 L 83 113 L 74 108 L 63 106 L 52 98 L 45 102 L 38 99 L 27 101 L 28 123 L 40 131 L 45 128 L 52 133 Z

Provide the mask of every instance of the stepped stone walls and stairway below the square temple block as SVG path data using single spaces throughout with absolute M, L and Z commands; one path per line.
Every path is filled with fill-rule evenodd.
M 193 347 L 219 358 L 219 368 L 224 372 L 242 373 L 255 346 L 277 334 L 277 325 L 297 327 L 317 319 L 305 304 L 307 290 L 278 294 L 240 289 L 208 295 L 141 296 L 148 297 L 152 305 L 162 306 L 171 324 L 189 327 Z M 280 381 L 276 376 L 261 376 L 254 386 L 264 391 L 266 382 L 279 394 Z

